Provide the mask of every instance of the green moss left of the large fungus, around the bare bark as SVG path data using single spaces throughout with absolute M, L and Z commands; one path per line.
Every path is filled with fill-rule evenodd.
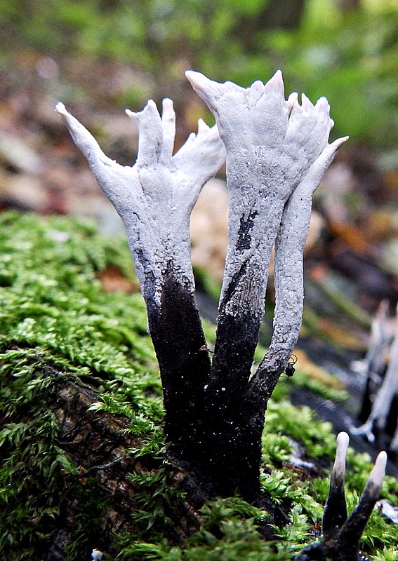
M 90 381 L 98 409 L 128 414 L 148 446 L 155 434 L 161 445 L 145 306 L 138 294 L 101 290 L 97 273 L 111 265 L 131 278 L 124 241 L 98 236 L 92 224 L 0 215 L 0 551 L 10 560 L 37 558 L 57 527 L 67 474 L 77 470 L 49 407 L 61 380 Z M 85 507 L 74 520 L 71 560 L 88 547 L 86 528 L 100 527 L 93 485 L 75 489 Z

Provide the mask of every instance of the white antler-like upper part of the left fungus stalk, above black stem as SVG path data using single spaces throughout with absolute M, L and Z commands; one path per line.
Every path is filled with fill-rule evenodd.
M 127 110 L 139 131 L 137 161 L 130 167 L 105 156 L 91 133 L 62 103 L 56 109 L 124 222 L 145 299 L 160 305 L 164 273 L 171 262 L 180 282 L 193 290 L 190 214 L 202 187 L 225 160 L 217 128 L 199 121 L 197 135 L 192 133 L 173 155 L 175 112 L 171 100 L 163 101 L 162 116 L 152 100 L 139 113 Z

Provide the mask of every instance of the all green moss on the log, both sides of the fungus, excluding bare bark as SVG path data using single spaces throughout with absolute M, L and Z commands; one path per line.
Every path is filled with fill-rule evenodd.
M 58 520 L 62 497 L 76 496 L 67 560 L 88 559 L 101 532 L 106 501 L 94 477 L 79 483 L 78 466 L 62 450 L 58 423 L 49 404 L 65 380 L 90 384 L 98 392 L 94 411 L 123 415 L 142 445 L 130 450 L 150 457 L 150 471 L 136 469 L 134 534 L 115 536 L 115 560 L 249 561 L 289 560 L 316 539 L 329 483 L 300 480 L 289 469 L 294 443 L 311 459 L 331 466 L 335 438 L 329 424 L 307 407 L 293 407 L 284 385 L 267 409 L 263 438 L 263 489 L 288 512 L 290 523 L 274 527 L 266 542 L 257 528 L 267 512 L 241 499 L 216 499 L 201 509 L 199 532 L 176 546 L 166 536 L 176 501 L 170 485 L 161 431 L 161 385 L 139 294 L 102 290 L 98 273 L 117 267 L 133 279 L 123 240 L 99 236 L 95 227 L 65 217 L 0 214 L 0 552 L 10 561 L 41 558 Z M 213 327 L 206 326 L 210 340 Z M 364 489 L 371 465 L 350 451 L 347 497 L 350 509 Z M 397 503 L 398 485 L 386 478 L 383 496 Z M 364 534 L 364 550 L 390 560 L 397 527 L 374 513 Z

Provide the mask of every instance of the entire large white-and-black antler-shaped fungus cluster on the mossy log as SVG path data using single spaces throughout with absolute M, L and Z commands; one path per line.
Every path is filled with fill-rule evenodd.
M 152 101 L 128 111 L 140 135 L 133 167 L 111 161 L 62 104 L 57 110 L 126 227 L 159 360 L 168 453 L 211 492 L 238 490 L 253 501 L 267 401 L 289 368 L 301 324 L 312 193 L 346 137 L 328 144 L 328 102 L 313 105 L 303 95 L 299 104 L 296 93 L 285 100 L 280 71 L 250 88 L 186 74 L 216 126 L 200 122 L 173 155 L 171 100 L 162 116 Z M 201 187 L 225 157 L 229 245 L 210 357 L 194 302 L 188 226 Z M 274 332 L 252 375 L 273 246 Z

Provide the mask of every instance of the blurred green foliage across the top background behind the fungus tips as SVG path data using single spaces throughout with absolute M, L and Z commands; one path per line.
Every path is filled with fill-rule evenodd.
M 286 12 L 294 6 L 284 4 Z M 394 146 L 398 1 L 306 0 L 293 29 L 283 22 L 278 26 L 275 18 L 272 27 L 267 25 L 270 6 L 276 10 L 278 3 L 3 0 L 0 45 L 3 58 L 20 49 L 57 62 L 65 56 L 128 62 L 136 76 L 127 97 L 137 104 L 148 93 L 171 95 L 189 67 L 242 86 L 267 80 L 280 67 L 286 91 L 305 90 L 313 101 L 326 95 L 336 121 L 334 135 Z

